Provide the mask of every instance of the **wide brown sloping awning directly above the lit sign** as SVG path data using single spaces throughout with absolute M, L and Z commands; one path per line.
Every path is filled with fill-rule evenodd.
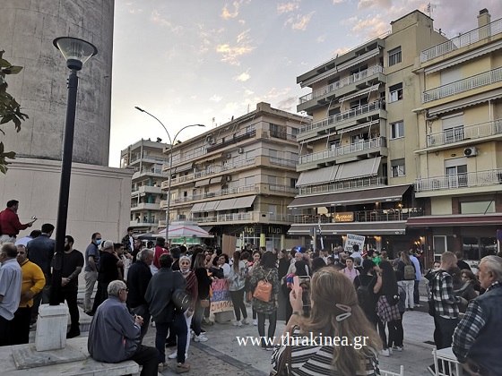
M 411 185 L 396 185 L 352 192 L 320 194 L 318 196 L 297 197 L 288 208 L 317 208 L 342 205 L 359 205 L 373 202 L 402 201 L 402 195 Z

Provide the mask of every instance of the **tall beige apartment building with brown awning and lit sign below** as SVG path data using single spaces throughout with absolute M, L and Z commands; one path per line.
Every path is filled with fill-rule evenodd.
M 392 21 L 392 30 L 301 74 L 312 91 L 298 111 L 299 195 L 290 203 L 290 234 L 323 235 L 325 248 L 347 234 L 390 252 L 424 243 L 406 227 L 422 214 L 413 183 L 418 172 L 420 51 L 446 40 L 419 11 Z M 306 239 L 307 241 L 307 239 Z M 320 247 L 317 242 L 316 248 Z

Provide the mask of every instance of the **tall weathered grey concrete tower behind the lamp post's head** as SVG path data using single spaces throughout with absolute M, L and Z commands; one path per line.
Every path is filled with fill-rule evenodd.
M 2 0 L 0 49 L 22 73 L 8 76 L 9 90 L 30 116 L 7 150 L 18 156 L 60 160 L 67 100 L 65 59 L 57 37 L 82 38 L 98 48 L 84 64 L 77 98 L 74 162 L 108 166 L 114 0 Z

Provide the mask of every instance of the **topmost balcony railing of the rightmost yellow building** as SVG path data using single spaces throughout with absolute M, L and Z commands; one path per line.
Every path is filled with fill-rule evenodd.
M 420 53 L 420 63 L 426 63 L 429 60 L 435 59 L 437 56 L 443 56 L 455 49 L 472 45 L 473 43 L 479 42 L 481 39 L 489 38 L 499 32 L 502 32 L 502 19 L 493 21 L 488 25 L 481 26 L 478 29 L 468 31 L 458 37 L 451 38 L 446 40 L 446 42 L 423 50 Z

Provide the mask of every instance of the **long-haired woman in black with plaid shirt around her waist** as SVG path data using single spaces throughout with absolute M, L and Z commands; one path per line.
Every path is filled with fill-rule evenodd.
M 378 315 L 378 332 L 384 349 L 380 353 L 389 356 L 393 352 L 393 344 L 397 351 L 402 350 L 402 322 L 399 313 L 399 292 L 394 269 L 389 261 L 380 261 L 374 291 L 378 294 L 376 314 Z M 385 335 L 385 324 L 389 329 L 389 341 Z M 401 350 L 399 350 L 401 349 Z

